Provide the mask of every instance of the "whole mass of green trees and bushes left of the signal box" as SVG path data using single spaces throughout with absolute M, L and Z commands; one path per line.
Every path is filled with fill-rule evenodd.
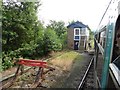
M 46 27 L 38 20 L 41 2 L 2 3 L 2 67 L 13 67 L 15 58 L 36 59 L 66 47 L 63 21 L 51 20 Z

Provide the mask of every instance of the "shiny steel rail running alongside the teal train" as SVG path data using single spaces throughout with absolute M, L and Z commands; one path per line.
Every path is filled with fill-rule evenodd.
M 83 76 L 83 78 L 82 78 L 82 81 L 80 82 L 77 90 L 80 90 L 80 89 L 83 88 L 83 85 L 84 85 L 85 80 L 86 80 L 86 78 L 87 78 L 87 75 L 88 75 L 88 72 L 89 72 L 89 70 L 90 70 L 90 67 L 92 66 L 93 60 L 94 60 L 94 58 L 92 58 L 92 59 L 90 60 L 89 66 L 88 66 L 88 68 L 87 68 L 87 70 L 86 70 L 86 72 L 85 72 L 85 74 L 84 74 L 84 76 Z

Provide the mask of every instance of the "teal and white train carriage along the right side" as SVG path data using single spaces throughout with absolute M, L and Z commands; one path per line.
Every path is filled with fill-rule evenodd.
M 94 41 L 95 87 L 120 89 L 120 0 L 109 2 Z

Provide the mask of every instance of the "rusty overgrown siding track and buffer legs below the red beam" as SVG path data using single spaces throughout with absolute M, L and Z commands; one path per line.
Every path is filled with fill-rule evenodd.
M 43 67 L 29 67 L 21 70 L 22 66 L 19 65 L 16 73 L 7 76 L 0 80 L 0 87 L 4 88 L 37 88 L 40 86 L 44 75 L 49 71 L 55 70 L 50 66 Z M 44 70 L 44 71 L 43 71 Z

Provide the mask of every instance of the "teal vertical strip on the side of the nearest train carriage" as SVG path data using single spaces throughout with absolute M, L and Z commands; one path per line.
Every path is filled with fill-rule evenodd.
M 107 28 L 107 40 L 104 53 L 104 67 L 101 81 L 102 90 L 105 90 L 105 88 L 107 88 L 109 63 L 112 56 L 112 47 L 113 47 L 113 24 L 110 24 Z

